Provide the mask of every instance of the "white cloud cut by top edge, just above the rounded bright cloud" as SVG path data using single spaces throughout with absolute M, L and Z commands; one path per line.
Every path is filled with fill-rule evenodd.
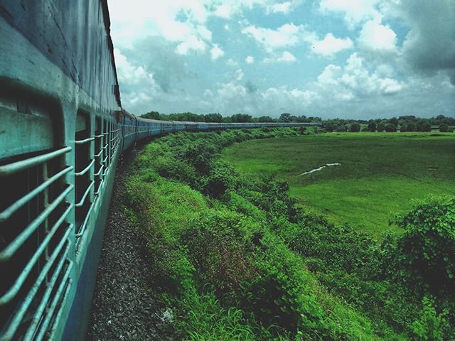
M 355 24 L 375 18 L 380 0 L 321 0 L 319 8 L 325 13 L 341 13 L 350 28 Z

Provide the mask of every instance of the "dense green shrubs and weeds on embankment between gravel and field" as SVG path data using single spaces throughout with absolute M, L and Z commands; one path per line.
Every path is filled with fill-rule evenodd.
M 297 134 L 173 134 L 135 161 L 124 209 L 181 336 L 455 340 L 454 198 L 416 203 L 395 219 L 405 233 L 378 244 L 300 210 L 287 183 L 247 180 L 220 160 L 236 141 Z

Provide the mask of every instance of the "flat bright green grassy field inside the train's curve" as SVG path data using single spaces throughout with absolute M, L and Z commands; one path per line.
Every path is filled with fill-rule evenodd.
M 455 194 L 455 135 L 331 133 L 253 140 L 225 149 L 243 175 L 287 180 L 300 205 L 380 239 L 410 200 Z M 326 163 L 340 166 L 301 175 Z

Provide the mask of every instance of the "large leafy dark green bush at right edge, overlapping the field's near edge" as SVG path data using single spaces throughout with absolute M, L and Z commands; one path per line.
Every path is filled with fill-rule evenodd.
M 455 198 L 430 196 L 394 223 L 405 229 L 386 251 L 389 272 L 434 293 L 455 293 Z

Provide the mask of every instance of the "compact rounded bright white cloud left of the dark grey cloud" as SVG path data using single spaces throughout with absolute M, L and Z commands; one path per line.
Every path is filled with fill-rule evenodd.
M 389 26 L 381 23 L 380 16 L 367 21 L 360 31 L 358 41 L 363 48 L 381 52 L 395 52 L 397 35 Z

